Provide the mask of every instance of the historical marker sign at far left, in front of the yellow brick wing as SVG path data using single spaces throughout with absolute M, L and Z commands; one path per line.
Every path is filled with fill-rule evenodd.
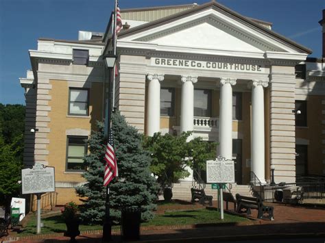
M 21 170 L 23 194 L 55 192 L 54 167 L 35 164 Z

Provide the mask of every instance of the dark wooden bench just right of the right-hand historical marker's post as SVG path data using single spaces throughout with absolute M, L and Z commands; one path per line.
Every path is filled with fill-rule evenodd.
M 241 196 L 240 194 L 236 194 L 237 201 L 237 213 L 246 213 L 248 215 L 251 214 L 250 209 L 257 209 L 258 214 L 257 218 L 268 218 L 269 220 L 274 220 L 273 211 L 274 208 L 272 206 L 263 205 L 263 200 L 261 196 L 250 197 L 250 196 Z M 242 209 L 245 209 L 245 212 L 242 212 Z M 264 216 L 267 214 L 267 216 Z

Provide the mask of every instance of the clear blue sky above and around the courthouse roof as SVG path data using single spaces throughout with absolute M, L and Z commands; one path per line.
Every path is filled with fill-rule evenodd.
M 120 0 L 120 8 L 206 3 L 208 0 Z M 219 0 L 245 16 L 322 55 L 325 0 Z M 105 31 L 114 0 L 0 0 L 0 103 L 25 103 L 19 77 L 30 68 L 29 49 L 41 37 L 76 40 L 78 30 Z M 122 15 L 123 18 L 123 15 Z

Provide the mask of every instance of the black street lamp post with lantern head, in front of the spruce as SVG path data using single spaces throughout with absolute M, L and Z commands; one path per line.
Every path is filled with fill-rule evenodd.
M 115 67 L 115 62 L 117 60 L 116 55 L 108 54 L 104 56 L 106 67 L 110 70 L 110 73 L 113 73 L 113 68 Z M 112 77 L 110 75 L 110 77 Z M 112 77 L 114 79 L 114 77 Z M 109 80 L 108 84 L 108 102 L 106 103 L 106 110 L 107 110 L 107 134 L 110 133 L 110 119 L 112 114 L 112 105 L 111 105 L 111 98 L 112 98 L 112 81 Z M 108 135 L 109 136 L 109 135 Z M 105 219 L 103 225 L 103 242 L 109 242 L 111 240 L 112 235 L 112 225 L 110 223 L 110 188 L 106 186 L 106 202 L 105 202 Z

